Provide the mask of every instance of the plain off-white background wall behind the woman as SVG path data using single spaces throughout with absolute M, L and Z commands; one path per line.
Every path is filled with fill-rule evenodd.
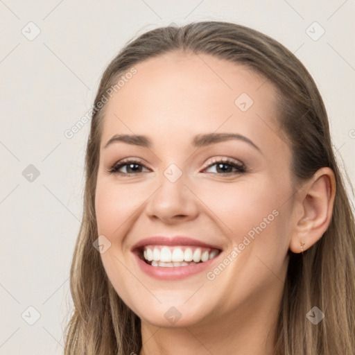
M 89 123 L 71 139 L 64 131 L 92 106 L 103 69 L 132 36 L 216 19 L 275 38 L 315 78 L 354 181 L 354 0 L 0 0 L 0 14 L 0 354 L 63 352 Z M 33 40 L 30 21 L 40 29 Z M 33 181 L 30 164 L 40 172 Z

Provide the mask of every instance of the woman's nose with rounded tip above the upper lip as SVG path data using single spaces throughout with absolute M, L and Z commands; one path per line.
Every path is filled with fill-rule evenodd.
M 160 186 L 148 199 L 146 214 L 149 218 L 159 219 L 166 224 L 179 221 L 187 222 L 198 216 L 198 198 L 185 184 L 186 173 L 172 182 L 162 174 Z

